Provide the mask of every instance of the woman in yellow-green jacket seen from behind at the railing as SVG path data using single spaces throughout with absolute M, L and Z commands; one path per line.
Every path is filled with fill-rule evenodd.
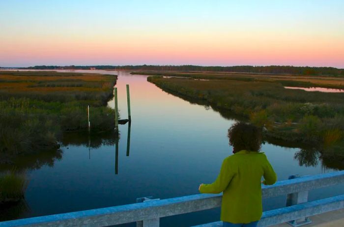
M 225 158 L 212 184 L 201 184 L 201 193 L 221 193 L 224 227 L 256 227 L 262 215 L 261 183 L 274 184 L 275 171 L 259 152 L 261 130 L 251 124 L 235 123 L 228 130 L 233 155 Z M 261 177 L 264 176 L 264 181 Z

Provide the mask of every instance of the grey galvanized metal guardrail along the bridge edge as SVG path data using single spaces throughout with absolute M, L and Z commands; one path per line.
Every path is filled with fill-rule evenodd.
M 344 208 L 344 195 L 307 202 L 309 190 L 342 183 L 344 183 L 344 171 L 337 171 L 278 181 L 275 185 L 263 186 L 263 198 L 289 195 L 291 204 L 280 209 L 265 211 L 259 226 L 276 225 Z M 146 199 L 144 202 L 135 204 L 0 222 L 0 227 L 105 227 L 132 222 L 137 222 L 138 226 L 157 227 L 159 219 L 162 217 L 219 207 L 221 199 L 222 195 L 213 194 L 161 200 Z M 307 219 L 306 222 L 303 221 L 301 224 L 307 223 Z M 290 224 L 298 226 L 300 223 L 292 222 Z M 215 222 L 201 226 L 221 225 L 221 222 Z

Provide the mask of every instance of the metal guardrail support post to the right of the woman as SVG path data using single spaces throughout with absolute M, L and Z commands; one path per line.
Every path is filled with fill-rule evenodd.
M 300 177 L 299 175 L 291 175 L 288 177 L 288 179 L 294 179 Z M 308 191 L 303 191 L 303 192 L 296 192 L 296 193 L 291 193 L 287 195 L 287 202 L 286 206 L 292 206 L 300 203 L 308 202 Z M 300 220 L 293 220 L 287 222 L 290 226 L 292 227 L 299 227 L 299 226 L 304 226 L 307 224 L 312 223 L 312 221 L 308 218 L 305 217 Z

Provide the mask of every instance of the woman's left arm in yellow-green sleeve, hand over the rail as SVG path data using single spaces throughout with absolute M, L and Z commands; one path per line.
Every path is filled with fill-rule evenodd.
M 212 184 L 201 184 L 199 190 L 201 193 L 223 192 L 227 188 L 233 175 L 234 173 L 230 170 L 227 159 L 225 159 L 222 163 L 220 174 L 217 179 Z

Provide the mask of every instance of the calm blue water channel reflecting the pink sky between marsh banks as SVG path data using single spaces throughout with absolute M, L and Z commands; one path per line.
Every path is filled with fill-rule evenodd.
M 231 154 L 227 130 L 233 120 L 225 119 L 211 108 L 190 104 L 162 91 L 148 83 L 146 76 L 96 72 L 118 74 L 116 87 L 121 118 L 127 118 L 125 85 L 130 85 L 129 153 L 128 124 L 119 126 L 117 155 L 111 134 L 90 138 L 90 141 L 87 135 L 70 135 L 63 142 L 61 154 L 45 154 L 23 162 L 21 168 L 28 169 L 30 178 L 27 204 L 2 211 L 2 219 L 135 203 L 136 198 L 146 196 L 166 199 L 192 195 L 198 193 L 200 183 L 210 183 L 216 178 L 222 160 Z M 114 107 L 114 100 L 109 106 Z M 307 151 L 299 153 L 304 164 L 300 166 L 300 160 L 294 158 L 300 148 L 265 143 L 262 151 L 279 180 L 291 174 L 334 171 L 325 168 L 316 154 Z M 342 187 L 331 187 L 311 192 L 310 199 L 343 193 Z M 285 197 L 264 200 L 263 204 L 265 210 L 282 207 Z M 191 226 L 216 220 L 219 220 L 219 209 L 164 218 L 161 225 Z

